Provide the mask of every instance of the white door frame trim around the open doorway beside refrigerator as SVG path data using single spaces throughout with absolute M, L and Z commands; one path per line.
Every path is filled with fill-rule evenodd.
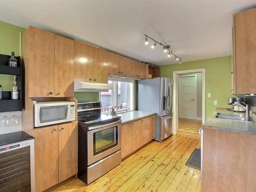
M 179 127 L 179 75 L 187 73 L 202 73 L 202 124 L 205 122 L 205 69 L 193 69 L 174 71 L 174 87 L 173 87 L 173 109 L 174 109 L 174 121 L 173 121 L 173 134 L 176 135 Z

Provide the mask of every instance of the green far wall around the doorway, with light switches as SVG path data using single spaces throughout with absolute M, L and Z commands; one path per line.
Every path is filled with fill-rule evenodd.
M 227 104 L 228 97 L 234 97 L 231 94 L 231 57 L 219 57 L 197 61 L 183 62 L 182 64 L 172 64 L 160 66 L 161 76 L 173 78 L 174 71 L 205 69 L 205 111 L 206 118 L 217 108 L 230 108 Z M 211 98 L 207 94 L 211 93 Z M 214 100 L 218 105 L 214 105 Z

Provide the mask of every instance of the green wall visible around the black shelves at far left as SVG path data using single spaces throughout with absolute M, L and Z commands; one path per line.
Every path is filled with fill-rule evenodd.
M 0 21 L 0 54 L 11 55 L 14 51 L 15 55 L 21 55 L 21 32 L 24 29 L 11 24 Z M 13 75 L 0 74 L 0 84 L 3 91 L 12 90 Z

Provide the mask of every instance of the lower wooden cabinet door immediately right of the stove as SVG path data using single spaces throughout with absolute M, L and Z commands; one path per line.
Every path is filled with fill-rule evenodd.
M 122 158 L 131 153 L 131 133 L 132 123 L 123 124 L 121 127 Z

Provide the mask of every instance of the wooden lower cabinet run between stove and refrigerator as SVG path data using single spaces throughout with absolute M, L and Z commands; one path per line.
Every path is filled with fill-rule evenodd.
M 155 138 L 156 116 L 152 115 L 122 124 L 121 130 L 121 157 L 124 158 Z

